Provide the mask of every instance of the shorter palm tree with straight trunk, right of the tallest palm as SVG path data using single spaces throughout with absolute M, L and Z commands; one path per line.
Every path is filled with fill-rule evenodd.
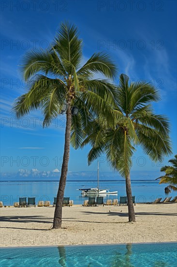
M 121 74 L 117 89 L 114 127 L 108 120 L 103 125 L 95 119 L 82 147 L 88 143 L 92 147 L 88 164 L 105 153 L 111 167 L 125 178 L 129 221 L 134 222 L 130 179 L 133 152 L 139 145 L 153 161 L 162 161 L 162 155 L 171 153 L 169 123 L 164 115 L 153 113 L 150 102 L 160 98 L 150 83 L 129 83 L 129 77 Z

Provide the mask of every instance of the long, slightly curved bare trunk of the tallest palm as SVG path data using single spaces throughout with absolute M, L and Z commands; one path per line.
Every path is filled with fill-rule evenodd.
M 70 136 L 71 136 L 71 100 L 68 100 L 68 110 L 66 113 L 66 130 L 65 130 L 65 144 L 63 162 L 61 167 L 61 176 L 59 180 L 59 190 L 57 194 L 57 203 L 54 214 L 53 229 L 61 228 L 62 222 L 62 203 L 64 196 L 64 189 L 66 185 L 66 176 L 68 172 L 68 162 L 70 156 Z

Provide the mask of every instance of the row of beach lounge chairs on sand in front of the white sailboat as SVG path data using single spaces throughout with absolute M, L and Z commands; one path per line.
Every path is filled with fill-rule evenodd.
M 135 196 L 132 197 L 132 201 L 135 205 Z M 120 197 L 120 201 L 118 202 L 118 200 L 113 200 L 111 202 L 111 200 L 107 200 L 106 203 L 103 202 L 103 197 L 97 197 L 95 199 L 95 197 L 88 197 L 88 200 L 84 201 L 83 206 L 97 206 L 97 205 L 118 205 L 119 206 L 121 204 L 123 205 L 128 205 L 128 201 L 127 201 L 127 197 Z

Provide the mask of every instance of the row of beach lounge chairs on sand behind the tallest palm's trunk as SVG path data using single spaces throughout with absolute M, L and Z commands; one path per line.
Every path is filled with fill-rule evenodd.
M 73 200 L 72 200 L 73 201 Z M 29 207 L 29 206 L 34 206 L 36 207 L 36 202 L 35 202 L 35 198 L 19 198 L 19 202 L 17 202 L 18 204 L 16 206 L 18 207 Z M 56 206 L 57 203 L 57 198 L 54 198 L 54 202 L 53 202 L 53 207 Z M 71 203 L 70 198 L 63 198 L 63 206 L 69 206 L 72 205 L 73 202 Z M 38 206 L 50 206 L 50 201 L 45 201 L 45 203 L 43 204 L 43 201 L 39 201 Z

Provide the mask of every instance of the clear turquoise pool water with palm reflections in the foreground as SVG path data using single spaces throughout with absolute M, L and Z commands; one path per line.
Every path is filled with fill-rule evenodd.
M 0 267 L 177 267 L 177 243 L 0 249 Z

